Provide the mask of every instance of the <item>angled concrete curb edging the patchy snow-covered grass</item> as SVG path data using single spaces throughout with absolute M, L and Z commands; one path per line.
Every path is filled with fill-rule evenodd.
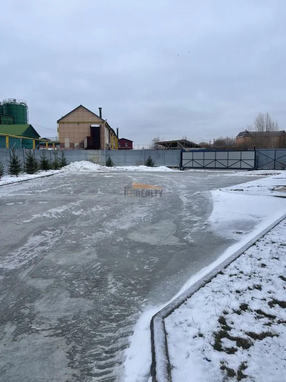
M 201 287 L 208 284 L 214 277 L 226 268 L 230 263 L 242 255 L 248 248 L 250 248 L 257 240 L 279 224 L 286 218 L 286 213 L 279 219 L 275 220 L 262 232 L 256 235 L 243 247 L 233 253 L 229 258 L 224 260 L 218 266 L 216 266 L 211 272 L 204 276 L 201 280 L 197 281 L 194 285 L 190 286 L 185 292 L 180 294 L 177 298 L 171 301 L 158 313 L 156 313 L 150 324 L 151 329 L 151 352 L 152 352 L 152 364 L 151 364 L 151 376 L 152 382 L 172 382 L 171 365 L 168 354 L 167 335 L 165 329 L 164 319 L 168 317 L 175 309 L 177 309 L 182 303 L 190 298 Z

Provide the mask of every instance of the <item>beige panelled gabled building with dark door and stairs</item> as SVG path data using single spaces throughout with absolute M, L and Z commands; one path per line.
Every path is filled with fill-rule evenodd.
M 60 148 L 65 150 L 117 150 L 117 134 L 99 115 L 79 105 L 58 121 Z

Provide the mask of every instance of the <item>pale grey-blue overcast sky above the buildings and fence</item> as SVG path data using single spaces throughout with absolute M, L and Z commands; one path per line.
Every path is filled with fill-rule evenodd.
M 237 135 L 260 111 L 284 130 L 285 16 L 285 0 L 3 1 L 0 98 L 25 99 L 42 136 L 79 104 L 135 145 Z

